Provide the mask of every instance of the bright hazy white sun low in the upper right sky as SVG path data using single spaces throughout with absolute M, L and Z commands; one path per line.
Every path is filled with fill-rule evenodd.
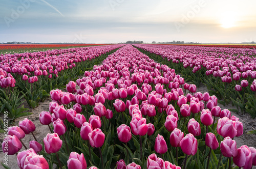
M 229 29 L 236 26 L 236 14 L 233 12 L 225 12 L 221 16 L 221 26 Z

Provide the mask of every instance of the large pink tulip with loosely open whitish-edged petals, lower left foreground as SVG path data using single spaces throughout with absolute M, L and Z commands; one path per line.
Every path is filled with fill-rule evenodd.
M 56 153 L 62 146 L 62 140 L 59 138 L 57 133 L 48 133 L 47 136 L 44 138 L 44 144 L 46 153 Z

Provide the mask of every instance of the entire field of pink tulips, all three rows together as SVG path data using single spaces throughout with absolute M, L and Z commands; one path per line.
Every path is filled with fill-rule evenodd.
M 230 111 L 256 117 L 255 57 L 255 48 L 150 44 L 2 54 L 1 126 L 18 123 L 2 129 L 3 154 L 22 169 L 252 168 L 256 149 L 237 146 L 244 126 Z M 38 139 L 24 105 L 49 98 Z

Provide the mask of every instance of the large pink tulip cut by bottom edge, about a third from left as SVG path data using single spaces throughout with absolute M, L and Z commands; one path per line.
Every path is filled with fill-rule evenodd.
M 78 154 L 76 152 L 71 152 L 69 156 L 68 168 L 72 169 L 83 169 L 87 168 L 86 159 L 84 159 L 83 154 Z

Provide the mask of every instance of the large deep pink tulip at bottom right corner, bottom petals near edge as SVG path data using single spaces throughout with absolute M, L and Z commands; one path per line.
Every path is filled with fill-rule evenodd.
M 238 148 L 238 155 L 233 157 L 234 164 L 244 169 L 250 169 L 252 166 L 252 154 L 247 146 Z

